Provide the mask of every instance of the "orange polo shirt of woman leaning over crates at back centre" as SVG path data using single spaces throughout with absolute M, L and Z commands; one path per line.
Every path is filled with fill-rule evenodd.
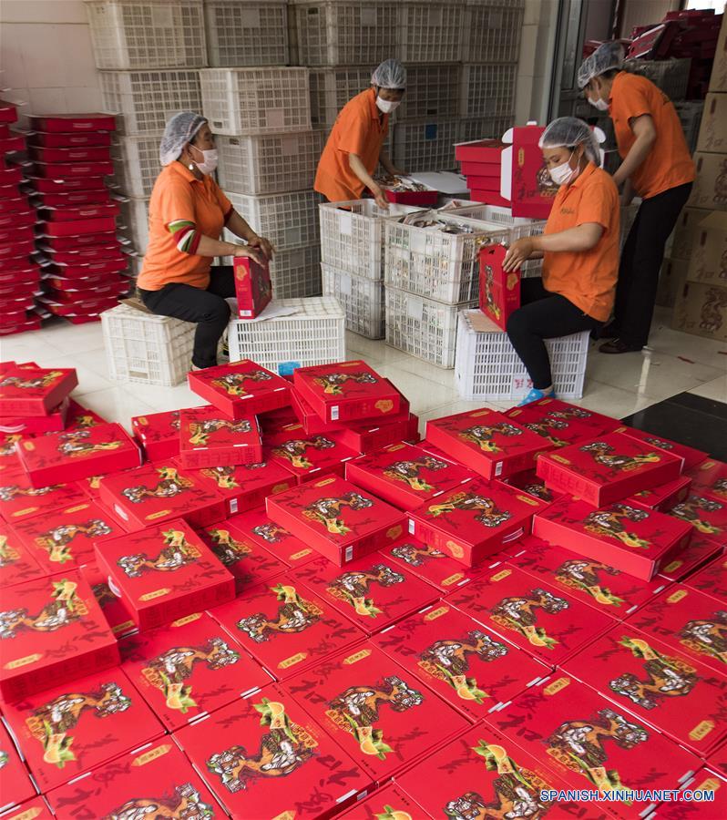
M 349 167 L 348 155 L 357 154 L 364 168 L 374 174 L 389 132 L 389 115 L 380 118 L 379 114 L 373 88 L 357 94 L 339 112 L 313 184 L 329 202 L 358 200 L 364 193 L 364 183 Z

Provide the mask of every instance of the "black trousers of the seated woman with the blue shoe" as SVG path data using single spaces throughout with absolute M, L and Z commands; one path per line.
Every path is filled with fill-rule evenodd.
M 602 322 L 583 313 L 559 293 L 550 293 L 541 279 L 520 282 L 521 307 L 507 320 L 507 335 L 527 374 L 538 390 L 553 384 L 550 358 L 544 339 L 599 330 Z

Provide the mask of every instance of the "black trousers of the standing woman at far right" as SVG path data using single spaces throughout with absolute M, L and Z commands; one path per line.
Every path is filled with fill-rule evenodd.
M 614 330 L 630 347 L 649 342 L 664 245 L 691 193 L 691 182 L 641 202 L 621 252 Z

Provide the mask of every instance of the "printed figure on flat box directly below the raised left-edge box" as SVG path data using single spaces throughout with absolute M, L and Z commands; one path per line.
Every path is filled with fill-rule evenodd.
M 68 733 L 75 729 L 86 712 L 98 719 L 119 712 L 126 712 L 131 698 L 121 691 L 118 683 L 109 681 L 94 692 L 67 692 L 34 710 L 26 718 L 28 731 L 43 744 L 43 760 L 63 769 L 69 761 L 76 760 L 71 748 L 73 737 Z

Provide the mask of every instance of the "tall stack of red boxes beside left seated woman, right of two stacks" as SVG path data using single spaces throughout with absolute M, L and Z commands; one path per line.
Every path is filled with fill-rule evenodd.
M 94 322 L 128 292 L 128 256 L 106 177 L 116 120 L 108 114 L 31 116 L 29 182 L 37 208 L 40 302 L 74 324 Z

